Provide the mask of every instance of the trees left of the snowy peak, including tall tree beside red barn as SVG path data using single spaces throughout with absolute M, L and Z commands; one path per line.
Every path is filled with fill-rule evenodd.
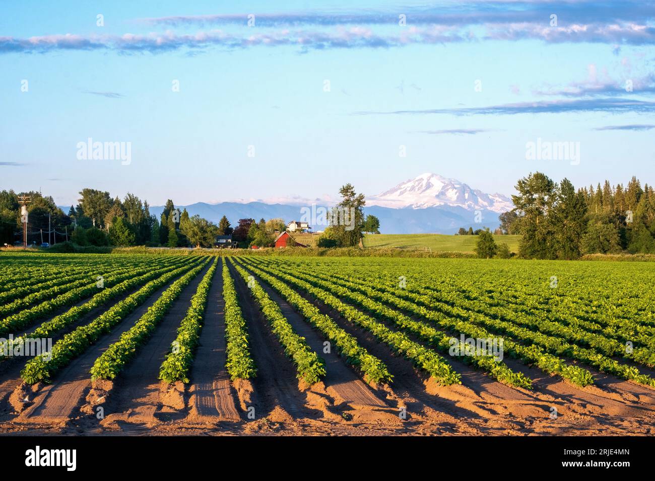
M 350 184 L 343 186 L 342 196 L 337 207 L 352 208 L 354 223 L 352 230 L 343 224 L 328 226 L 320 236 L 319 243 L 324 247 L 350 247 L 359 245 L 363 232 L 379 233 L 379 219 L 373 215 L 364 217 L 364 194 L 356 194 Z M 279 232 L 286 230 L 284 219 L 276 218 L 239 219 L 232 227 L 223 215 L 218 225 L 199 215 L 190 216 L 186 209 L 179 211 L 171 199 L 166 201 L 159 217 L 150 213 L 146 200 L 134 194 L 124 198 L 112 197 L 109 192 L 93 188 L 83 188 L 79 192 L 77 204 L 71 205 L 64 213 L 51 196 L 41 192 L 19 192 L 3 190 L 0 192 L 0 242 L 14 243 L 21 240 L 19 196 L 29 196 L 29 235 L 31 243 L 41 243 L 41 230 L 54 231 L 56 242 L 71 241 L 81 246 L 130 246 L 149 247 L 212 247 L 216 236 L 231 235 L 233 242 L 240 247 L 270 247 L 274 245 Z M 20 234 L 20 235 L 19 235 Z M 45 239 L 44 239 L 45 241 Z M 295 245 L 291 239 L 288 245 Z

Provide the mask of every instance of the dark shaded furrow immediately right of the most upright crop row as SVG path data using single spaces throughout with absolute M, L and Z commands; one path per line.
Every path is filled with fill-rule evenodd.
M 306 406 L 307 395 L 299 390 L 296 370 L 290 359 L 284 355 L 282 346 L 272 333 L 268 321 L 259 311 L 246 283 L 234 266 L 229 266 L 239 305 L 250 332 L 250 353 L 257 366 L 257 376 L 252 380 L 254 387 L 255 418 L 265 418 L 281 407 L 295 419 L 320 418 L 320 410 Z

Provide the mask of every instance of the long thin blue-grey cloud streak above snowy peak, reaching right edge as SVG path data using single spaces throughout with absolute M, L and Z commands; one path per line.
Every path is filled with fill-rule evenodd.
M 568 112 L 607 112 L 607 113 L 653 113 L 655 102 L 620 98 L 602 99 L 560 99 L 537 102 L 505 103 L 489 107 L 464 107 L 458 109 L 425 109 L 397 111 L 359 111 L 352 115 L 516 115 L 538 113 Z

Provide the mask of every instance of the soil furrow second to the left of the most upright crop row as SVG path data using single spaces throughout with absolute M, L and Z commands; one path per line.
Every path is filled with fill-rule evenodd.
M 191 298 L 196 293 L 202 277 L 209 270 L 211 262 L 212 260 L 183 289 L 154 332 L 139 348 L 136 356 L 116 377 L 103 406 L 105 418 L 100 421 L 101 425 L 115 421 L 152 424 L 159 423 L 159 418 L 168 420 L 181 417 L 180 411 L 184 410 L 182 406 L 177 406 L 179 409 L 162 406 L 159 369 L 170 350 L 170 345 L 178 336 L 178 327 L 189 310 Z

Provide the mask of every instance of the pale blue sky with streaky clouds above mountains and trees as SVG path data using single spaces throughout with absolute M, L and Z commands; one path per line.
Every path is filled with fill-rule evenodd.
M 653 1 L 0 12 L 0 190 L 58 205 L 84 187 L 151 205 L 335 198 L 346 182 L 370 195 L 425 172 L 506 195 L 537 170 L 655 181 Z M 88 139 L 126 155 L 81 158 Z M 537 142 L 579 156 L 531 158 Z

